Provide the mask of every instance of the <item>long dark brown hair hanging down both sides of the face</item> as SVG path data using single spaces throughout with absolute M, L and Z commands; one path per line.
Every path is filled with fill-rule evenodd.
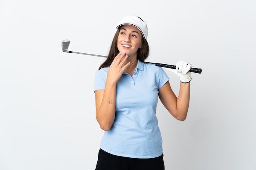
M 108 53 L 108 57 L 107 59 L 99 66 L 99 70 L 101 68 L 104 68 L 104 67 L 108 67 L 111 65 L 111 63 L 113 62 L 114 58 L 117 56 L 117 54 L 119 53 L 119 50 L 117 48 L 117 37 L 120 33 L 120 29 L 121 27 L 119 27 L 117 29 L 117 32 L 115 33 L 115 36 L 112 40 L 112 44 L 111 44 L 111 47 L 110 47 L 110 50 L 109 50 L 109 53 Z M 146 39 L 144 39 L 143 37 L 141 37 L 142 39 L 142 46 L 141 48 L 138 49 L 138 52 L 137 52 L 137 59 L 139 61 L 142 61 L 144 62 L 146 58 L 148 58 L 148 55 L 149 55 L 149 46 L 148 46 L 148 41 Z

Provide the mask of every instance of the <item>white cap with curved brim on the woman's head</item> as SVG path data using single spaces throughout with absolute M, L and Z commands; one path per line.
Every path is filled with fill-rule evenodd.
M 142 33 L 142 36 L 144 39 L 147 39 L 148 37 L 148 26 L 146 22 L 142 21 L 139 17 L 137 16 L 126 16 L 124 17 L 118 24 L 117 28 L 119 28 L 122 25 L 132 25 L 136 26 L 140 32 Z

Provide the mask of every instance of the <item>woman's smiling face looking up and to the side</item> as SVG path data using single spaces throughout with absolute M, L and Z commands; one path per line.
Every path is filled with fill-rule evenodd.
M 137 57 L 137 51 L 142 45 L 142 34 L 132 25 L 123 25 L 117 37 L 117 48 L 120 52 L 126 52 L 128 57 Z

